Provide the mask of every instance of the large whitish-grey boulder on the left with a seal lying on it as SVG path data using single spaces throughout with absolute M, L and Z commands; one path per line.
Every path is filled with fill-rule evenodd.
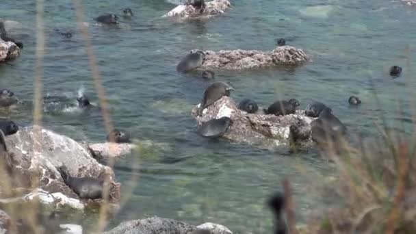
M 71 205 L 82 209 L 82 204 L 101 203 L 101 199 L 81 200 L 62 180 L 57 167 L 66 166 L 73 177 L 109 178 L 109 203 L 120 201 L 120 183 L 115 180 L 112 168 L 99 164 L 81 144 L 64 135 L 38 127 L 24 127 L 16 134 L 8 135 L 5 140 L 8 146 L 8 174 L 12 177 L 12 187 L 18 190 L 36 190 L 27 194 L 26 198 L 39 197 L 45 203 L 55 205 Z M 10 197 L 9 191 L 0 186 L 0 197 Z M 51 194 L 45 194 L 49 192 Z M 74 199 L 70 199 L 74 198 Z M 80 205 L 81 204 L 81 205 Z

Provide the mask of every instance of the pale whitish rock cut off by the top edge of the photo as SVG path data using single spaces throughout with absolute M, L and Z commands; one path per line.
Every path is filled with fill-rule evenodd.
M 200 14 L 200 9 L 194 8 L 192 5 L 178 5 L 170 12 L 162 17 L 178 17 L 178 18 L 210 18 L 224 14 L 224 10 L 229 8 L 231 3 L 229 0 L 213 0 L 205 3 L 205 10 Z

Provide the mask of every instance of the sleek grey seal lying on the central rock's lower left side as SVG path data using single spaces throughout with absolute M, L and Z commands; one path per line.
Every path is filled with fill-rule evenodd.
M 229 117 L 214 118 L 200 125 L 196 132 L 205 138 L 219 138 L 224 135 L 231 124 Z

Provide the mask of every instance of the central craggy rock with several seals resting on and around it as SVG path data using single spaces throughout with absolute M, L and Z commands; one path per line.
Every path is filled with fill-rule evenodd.
M 202 116 L 197 116 L 197 105 L 192 109 L 192 117 L 201 125 L 213 118 L 227 116 L 233 121 L 223 137 L 235 142 L 248 144 L 272 144 L 279 146 L 287 144 L 290 140 L 290 126 L 296 125 L 300 129 L 298 139 L 303 142 L 311 142 L 311 122 L 314 118 L 304 115 L 304 111 L 296 111 L 295 114 L 285 116 L 265 115 L 262 112 L 248 114 L 237 108 L 236 103 L 229 96 L 221 99 L 203 110 Z M 259 109 L 261 109 L 259 107 Z

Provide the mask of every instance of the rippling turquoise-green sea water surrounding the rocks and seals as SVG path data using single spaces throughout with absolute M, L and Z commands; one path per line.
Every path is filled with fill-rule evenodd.
M 300 221 L 333 202 L 318 189 L 323 180 L 315 177 L 332 174 L 333 167 L 313 148 L 290 155 L 287 148 L 265 150 L 196 135 L 190 109 L 200 101 L 209 81 L 175 70 L 191 49 L 272 50 L 276 38 L 286 38 L 287 44 L 311 55 L 313 62 L 298 68 L 217 72 L 216 79 L 232 84 L 236 100 L 251 98 L 268 105 L 276 99 L 296 98 L 301 107 L 322 101 L 350 131 L 376 134 L 374 122 L 380 123 L 380 116 L 411 125 L 407 109 L 415 89 L 411 73 L 416 61 L 412 47 L 415 8 L 387 0 L 242 0 L 232 4 L 223 16 L 179 23 L 160 18 L 175 6 L 164 1 L 84 3 L 114 125 L 127 129 L 134 138 L 155 143 L 146 152 L 116 164 L 117 179 L 131 198 L 112 224 L 161 216 L 192 224 L 218 222 L 235 233 L 270 233 L 272 217 L 264 200 L 280 189 L 286 176 L 294 187 Z M 106 12 L 121 15 L 126 7 L 135 16 L 118 28 L 92 21 Z M 34 1 L 0 1 L 0 18 L 21 23 L 10 34 L 25 44 L 13 66 L 0 66 L 0 87 L 10 88 L 26 103 L 33 98 L 35 9 Z M 66 96 L 68 105 L 73 105 L 77 91 L 84 88 L 98 103 L 72 1 L 47 1 L 45 11 L 44 95 Z M 74 36 L 63 38 L 54 29 L 73 31 Z M 387 73 L 395 64 L 404 72 L 391 79 Z M 348 107 L 352 94 L 363 101 L 360 107 Z M 398 104 L 405 109 L 404 115 L 398 114 Z M 65 110 L 45 108 L 44 125 L 76 140 L 105 139 L 99 112 Z M 32 122 L 30 105 L 4 115 L 20 125 Z M 130 183 L 135 176 L 138 182 Z M 88 217 L 77 217 L 77 221 L 86 223 Z

